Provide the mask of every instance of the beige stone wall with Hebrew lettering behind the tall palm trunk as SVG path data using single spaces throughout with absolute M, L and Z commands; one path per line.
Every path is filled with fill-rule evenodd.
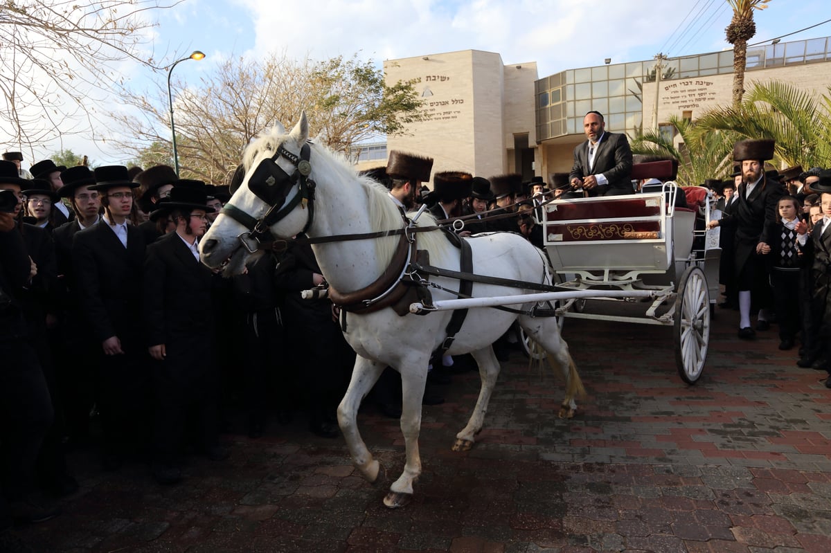
M 831 62 L 811 63 L 802 66 L 783 66 L 770 69 L 747 71 L 745 91 L 754 82 L 785 81 L 805 91 L 812 91 L 818 98 L 828 94 L 831 86 Z M 643 128 L 652 127 L 652 113 L 655 106 L 656 83 L 643 85 Z M 658 89 L 658 123 L 666 123 L 671 115 L 683 116 L 691 111 L 696 119 L 706 110 L 719 105 L 730 105 L 733 95 L 733 74 L 672 79 L 661 81 Z

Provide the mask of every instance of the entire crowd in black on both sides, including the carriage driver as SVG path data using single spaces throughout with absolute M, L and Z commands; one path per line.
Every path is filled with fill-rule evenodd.
M 543 203 L 637 192 L 625 135 L 607 133 L 595 111 L 584 131 L 571 173 L 548 183 L 438 172 L 430 189 L 433 160 L 396 150 L 368 174 L 404 221 L 424 204 L 439 223 L 455 222 L 445 227 L 450 239 L 509 231 L 542 248 Z M 721 228 L 720 306 L 739 311 L 746 340 L 775 314 L 779 348 L 799 340 L 798 365 L 831 372 L 831 171 L 765 172 L 773 148 L 770 140 L 737 143 L 735 174 L 705 184 L 723 213 L 707 223 Z M 175 484 L 184 454 L 228 457 L 219 434 L 234 406 L 251 438 L 270 417 L 287 422 L 297 412 L 312 433 L 338 435 L 337 403 L 355 354 L 331 301 L 301 300 L 300 291 L 325 286 L 311 247 L 290 242 L 232 278 L 199 262 L 199 238 L 241 171 L 216 186 L 179 179 L 166 165 L 91 170 L 47 159 L 26 171 L 22 154 L 3 158 L 0 530 L 12 518 L 57 516 L 50 498 L 78 488 L 69 448 L 98 448 L 106 471 L 145 459 L 156 481 Z M 499 360 L 515 342 L 509 332 L 494 344 Z M 438 386 L 470 369 L 470 360 L 434 354 L 425 404 L 442 403 Z M 394 370 L 373 399 L 384 414 L 401 415 Z

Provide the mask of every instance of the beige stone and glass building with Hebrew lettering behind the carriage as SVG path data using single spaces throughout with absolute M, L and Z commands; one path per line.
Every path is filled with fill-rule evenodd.
M 489 177 L 517 172 L 529 180 L 568 172 L 583 141 L 583 115 L 598 110 L 607 130 L 672 135 L 671 115 L 695 119 L 731 101 L 733 51 L 568 69 L 539 78 L 534 61 L 504 64 L 494 52 L 465 50 L 384 62 L 387 81 L 413 81 L 426 120 L 384 144 L 364 145 L 358 166 L 376 167 L 386 152 L 429 155 L 436 171 Z M 748 48 L 745 89 L 779 80 L 821 97 L 831 86 L 831 38 Z M 373 158 L 373 159 L 371 159 Z

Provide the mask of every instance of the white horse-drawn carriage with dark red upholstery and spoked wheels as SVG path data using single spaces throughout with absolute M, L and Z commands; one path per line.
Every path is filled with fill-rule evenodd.
M 636 165 L 636 173 L 661 176 L 669 163 Z M 677 208 L 676 194 L 685 191 L 691 208 Z M 695 383 L 718 296 L 718 237 L 704 224 L 714 203 L 707 188 L 671 182 L 627 196 L 548 203 L 544 243 L 558 287 L 569 292 L 558 316 L 673 326 L 678 372 Z M 644 316 L 603 315 L 586 311 L 587 299 L 649 303 Z

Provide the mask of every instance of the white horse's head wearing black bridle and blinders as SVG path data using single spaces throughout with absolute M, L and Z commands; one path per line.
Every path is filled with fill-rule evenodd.
M 293 237 L 312 223 L 314 181 L 306 113 L 286 134 L 275 125 L 243 154 L 244 175 L 232 197 L 199 243 L 202 262 L 226 276 L 243 271 L 274 238 Z

